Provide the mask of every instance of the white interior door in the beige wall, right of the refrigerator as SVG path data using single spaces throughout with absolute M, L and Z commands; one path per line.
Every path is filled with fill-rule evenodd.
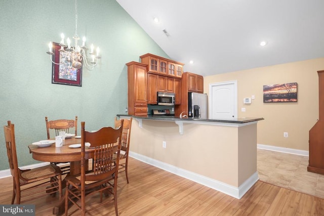
M 237 118 L 237 80 L 209 84 L 209 118 Z

